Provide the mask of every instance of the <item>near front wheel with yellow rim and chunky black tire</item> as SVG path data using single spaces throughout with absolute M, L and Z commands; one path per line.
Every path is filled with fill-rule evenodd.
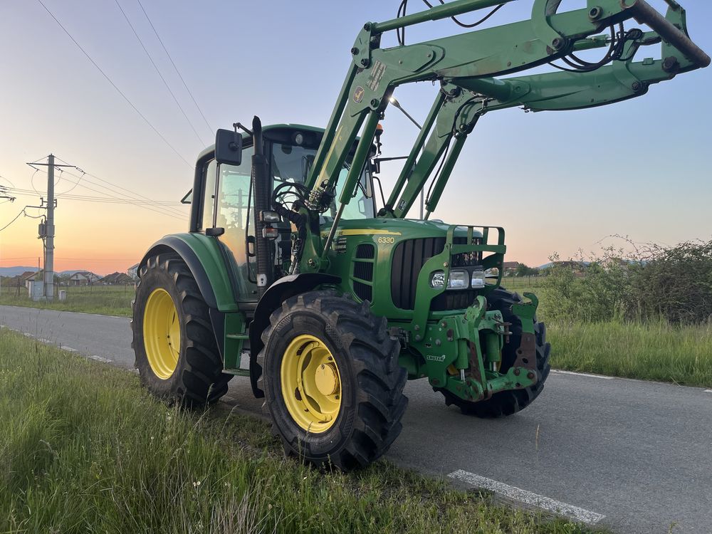
M 386 320 L 371 315 L 367 302 L 311 291 L 286 300 L 270 323 L 258 361 L 273 434 L 286 454 L 342 471 L 382 456 L 400 434 L 408 402 L 399 342 Z

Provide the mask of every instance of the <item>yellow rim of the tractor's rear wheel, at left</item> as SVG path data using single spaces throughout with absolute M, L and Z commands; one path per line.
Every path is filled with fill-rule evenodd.
M 169 378 L 180 355 L 180 321 L 167 290 L 155 289 L 148 295 L 143 312 L 143 344 L 155 375 L 164 380 Z

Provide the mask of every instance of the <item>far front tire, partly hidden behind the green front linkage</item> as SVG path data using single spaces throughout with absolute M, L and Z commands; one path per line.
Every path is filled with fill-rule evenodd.
M 507 372 L 512 365 L 514 365 L 517 357 L 516 350 L 519 347 L 522 337 L 522 323 L 512 312 L 512 305 L 520 303 L 521 301 L 522 299 L 517 293 L 510 293 L 504 288 L 493 290 L 487 298 L 488 308 L 491 310 L 500 310 L 505 322 L 511 323 L 510 330 L 512 335 L 502 350 L 501 372 Z M 459 407 L 460 411 L 464 414 L 487 419 L 512 415 L 528 407 L 529 404 L 534 402 L 534 399 L 539 396 L 542 389 L 544 389 L 544 382 L 551 370 L 549 365 L 551 345 L 546 342 L 546 327 L 544 323 L 534 320 L 534 333 L 536 343 L 536 371 L 538 375 L 536 384 L 525 387 L 524 389 L 498 392 L 493 394 L 491 398 L 480 402 L 466 401 L 445 389 L 440 389 L 445 397 L 445 404 L 448 406 L 454 404 L 456 407 Z

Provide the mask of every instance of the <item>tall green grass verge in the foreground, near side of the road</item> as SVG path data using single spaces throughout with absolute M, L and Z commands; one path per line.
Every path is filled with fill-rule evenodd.
M 2 533 L 590 533 L 378 461 L 285 459 L 268 426 L 0 331 Z

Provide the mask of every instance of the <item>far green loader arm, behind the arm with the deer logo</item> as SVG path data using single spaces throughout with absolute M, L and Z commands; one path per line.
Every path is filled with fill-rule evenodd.
M 668 10 L 668 21 L 675 26 L 683 28 L 686 33 L 686 20 L 684 9 L 671 7 Z M 607 36 L 594 36 L 589 39 L 577 41 L 577 50 L 589 50 L 607 46 Z M 429 179 L 432 168 L 429 166 L 431 159 L 439 156 L 444 147 L 454 139 L 449 156 L 444 162 L 441 171 L 432 179 L 433 186 L 426 197 L 426 213 L 435 210 L 440 196 L 450 177 L 457 156 L 464 145 L 467 135 L 471 132 L 481 115 L 494 110 L 522 107 L 526 111 L 545 110 L 580 110 L 595 108 L 601 105 L 621 102 L 630 98 L 645 95 L 650 85 L 674 78 L 679 73 L 688 72 L 698 68 L 696 63 L 682 56 L 669 43 L 661 43 L 661 59 L 646 58 L 634 62 L 634 55 L 640 46 L 649 46 L 660 43 L 659 36 L 654 32 L 643 33 L 639 42 L 630 42 L 624 49 L 623 57 L 626 61 L 616 61 L 611 66 L 605 66 L 594 72 L 570 73 L 553 72 L 539 75 L 520 76 L 515 78 L 461 78 L 457 80 L 459 87 L 468 90 L 464 93 L 470 97 L 471 104 L 465 106 L 457 120 L 453 122 L 452 104 L 467 101 L 464 96 L 448 99 L 441 105 L 443 111 L 437 117 L 437 124 L 451 123 L 451 131 L 444 132 L 442 127 L 436 128 L 431 133 L 425 150 L 420 159 L 402 169 L 402 174 L 393 189 L 392 195 L 382 212 L 382 216 L 404 217 L 416 201 L 420 188 Z M 453 85 L 446 86 L 452 91 Z M 473 98 L 478 95 L 479 98 Z M 450 104 L 450 107 L 448 106 Z M 423 130 L 429 130 L 426 122 Z M 414 151 L 419 152 L 420 146 L 415 145 Z M 437 159 L 437 158 L 435 158 Z M 409 160 L 410 161 L 410 160 Z M 420 172 L 419 172 L 420 171 Z M 408 187 L 403 191 L 402 184 L 408 180 Z M 395 207 L 393 207 L 395 206 Z M 426 218 L 427 218 L 426 216 Z

